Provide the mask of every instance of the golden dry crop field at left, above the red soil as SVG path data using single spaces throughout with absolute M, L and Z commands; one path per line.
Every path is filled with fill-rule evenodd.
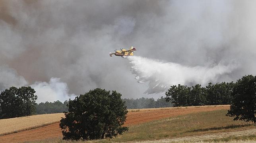
M 31 130 L 33 128 L 47 126 L 52 123 L 60 122 L 61 117 L 64 117 L 64 113 L 1 119 L 0 135 L 12 134 L 24 130 Z

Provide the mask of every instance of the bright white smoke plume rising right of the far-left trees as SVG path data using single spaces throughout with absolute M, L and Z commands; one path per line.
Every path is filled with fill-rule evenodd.
M 47 82 L 36 82 L 31 85 L 35 89 L 37 95 L 37 103 L 40 102 L 54 102 L 59 100 L 64 102 L 69 98 L 74 99 L 74 94 L 69 94 L 68 85 L 60 81 L 60 78 L 52 77 L 50 81 Z

